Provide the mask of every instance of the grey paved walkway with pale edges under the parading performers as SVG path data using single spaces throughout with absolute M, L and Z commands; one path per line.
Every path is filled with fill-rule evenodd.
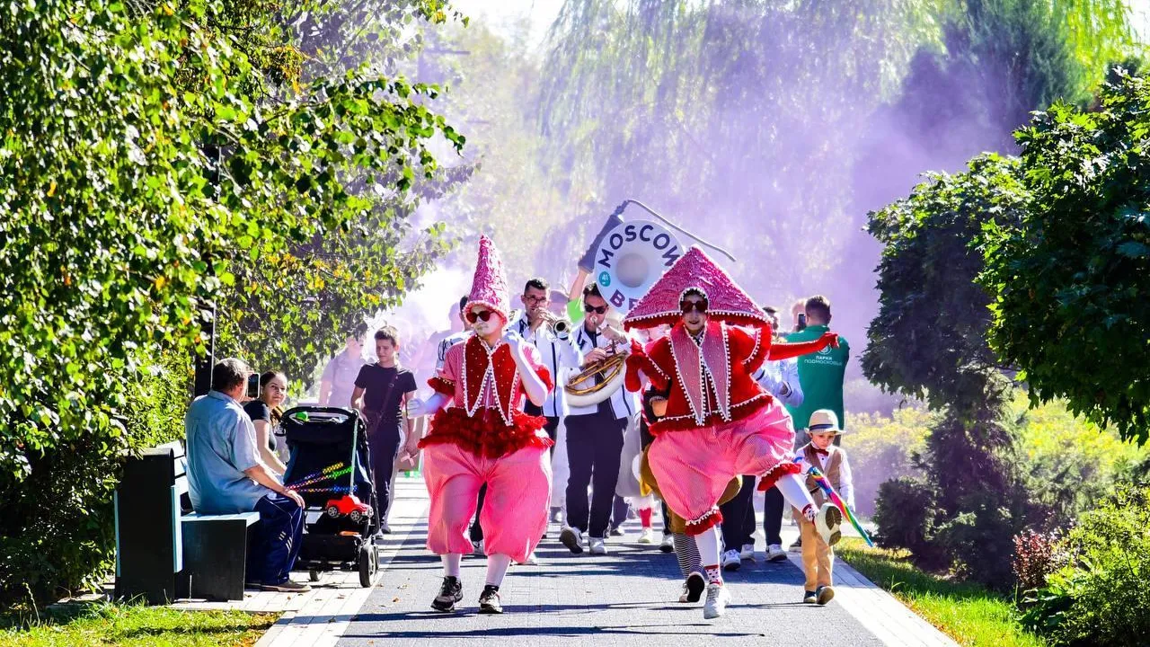
M 455 614 L 430 609 L 442 571 L 423 547 L 425 490 L 422 481 L 401 479 L 383 554 L 385 570 L 375 588 L 359 588 L 354 576 L 327 574 L 321 586 L 292 600 L 250 593 L 240 608 L 285 609 L 258 647 L 366 647 L 381 645 L 703 645 L 715 638 L 730 645 L 954 645 L 884 591 L 839 562 L 836 599 L 827 607 L 802 604 L 803 578 L 791 562 L 754 563 L 727 573 L 734 594 L 728 612 L 704 621 L 700 604 L 680 604 L 678 568 L 673 554 L 634 543 L 628 535 L 608 541 L 611 554 L 572 555 L 552 525 L 540 545 L 538 566 L 512 566 L 503 586 L 503 616 L 475 612 L 484 561 L 465 558 L 463 602 Z M 793 534 L 793 530 L 787 528 Z M 791 536 L 785 536 L 787 541 Z M 283 595 L 283 594 L 279 594 Z

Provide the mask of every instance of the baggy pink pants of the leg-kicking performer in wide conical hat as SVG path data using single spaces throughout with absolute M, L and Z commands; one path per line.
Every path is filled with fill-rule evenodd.
M 733 477 L 784 469 L 793 449 L 790 413 L 772 401 L 743 420 L 664 432 L 647 460 L 664 501 L 687 519 L 688 534 L 699 534 L 722 520 L 718 503 Z

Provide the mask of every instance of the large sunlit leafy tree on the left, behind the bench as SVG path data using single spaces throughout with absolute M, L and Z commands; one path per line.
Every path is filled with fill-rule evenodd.
M 440 10 L 431 0 L 413 7 Z M 202 347 L 205 303 L 268 294 L 276 287 L 252 279 L 288 253 L 393 223 L 388 201 L 436 170 L 429 138 L 462 145 L 427 107 L 434 87 L 366 69 L 291 76 L 291 66 L 244 54 L 259 39 L 220 29 L 236 10 L 9 7 L 0 52 L 5 602 L 51 600 L 108 564 L 120 452 L 156 439 L 146 411 L 178 417 L 184 405 L 148 403 L 133 385 L 155 365 L 151 375 L 186 383 L 169 359 Z M 248 26 L 259 35 L 268 24 Z M 375 249 L 379 283 L 424 267 Z M 345 287 L 358 284 L 348 268 L 368 261 L 292 256 L 301 269 L 285 275 Z M 282 303 L 264 309 L 268 329 L 299 320 L 299 304 Z

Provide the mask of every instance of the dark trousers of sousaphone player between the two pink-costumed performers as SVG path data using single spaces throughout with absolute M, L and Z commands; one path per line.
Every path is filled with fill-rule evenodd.
M 619 480 L 627 418 L 597 411 L 567 417 L 567 524 L 595 538 L 606 538 Z M 592 482 L 593 480 L 593 482 Z M 586 488 L 593 485 L 588 509 Z

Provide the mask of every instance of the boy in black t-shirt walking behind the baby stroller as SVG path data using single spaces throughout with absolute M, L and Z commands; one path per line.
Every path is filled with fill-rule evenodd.
M 391 473 L 399 454 L 400 429 L 412 427 L 407 419 L 407 402 L 415 397 L 415 374 L 399 366 L 399 330 L 384 326 L 375 333 L 378 363 L 360 368 L 352 391 L 352 406 L 367 419 L 367 439 L 371 448 L 371 475 L 379 500 L 379 532 L 391 528 L 383 522 L 391 507 Z

